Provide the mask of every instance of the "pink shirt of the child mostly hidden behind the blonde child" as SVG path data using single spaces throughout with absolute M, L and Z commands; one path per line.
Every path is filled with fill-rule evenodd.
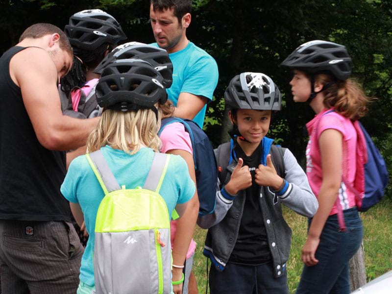
M 192 151 L 192 143 L 191 138 L 187 131 L 185 131 L 184 125 L 182 123 L 170 123 L 161 132 L 160 135 L 162 141 L 161 152 L 166 153 L 172 149 L 181 149 L 185 150 L 191 154 Z M 174 244 L 175 239 L 175 231 L 177 229 L 177 221 L 171 221 L 171 242 Z M 191 244 L 188 248 L 187 259 L 192 256 L 192 254 L 196 250 L 196 243 L 192 239 Z

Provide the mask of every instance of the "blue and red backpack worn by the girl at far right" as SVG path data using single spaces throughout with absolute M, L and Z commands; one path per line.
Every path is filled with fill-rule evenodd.
M 326 115 L 335 110 L 329 110 Z M 353 122 L 357 131 L 356 176 L 354 186 L 343 177 L 343 183 L 355 195 L 358 211 L 365 212 L 380 202 L 388 184 L 388 169 L 380 151 L 374 145 L 365 127 L 359 121 Z M 338 203 L 338 220 L 341 230 L 345 230 L 342 206 Z

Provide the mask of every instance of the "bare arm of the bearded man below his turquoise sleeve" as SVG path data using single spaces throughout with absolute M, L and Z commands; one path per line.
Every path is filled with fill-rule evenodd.
M 193 120 L 207 102 L 208 99 L 204 96 L 182 92 L 178 97 L 177 106 L 174 108 L 174 116 Z

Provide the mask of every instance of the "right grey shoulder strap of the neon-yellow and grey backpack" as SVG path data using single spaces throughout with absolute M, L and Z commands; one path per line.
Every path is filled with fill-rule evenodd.
M 148 172 L 144 189 L 159 193 L 170 161 L 170 154 L 154 152 L 151 168 Z

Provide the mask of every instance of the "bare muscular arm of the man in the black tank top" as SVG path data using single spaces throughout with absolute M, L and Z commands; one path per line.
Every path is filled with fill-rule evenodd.
M 46 50 L 27 48 L 10 62 L 10 75 L 21 88 L 25 109 L 38 141 L 52 150 L 69 150 L 86 144 L 97 119 L 63 116 L 56 87 L 57 70 Z

